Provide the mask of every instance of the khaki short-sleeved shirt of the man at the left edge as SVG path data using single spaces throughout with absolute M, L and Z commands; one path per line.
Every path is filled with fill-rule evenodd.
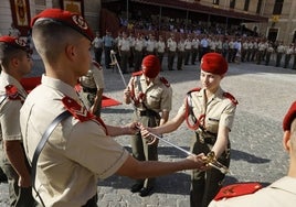
M 20 109 L 22 107 L 21 100 L 9 100 L 6 96 L 6 86 L 13 85 L 18 88 L 22 101 L 27 97 L 27 92 L 21 84 L 8 75 L 1 72 L 0 75 L 0 129 L 2 132 L 2 139 L 7 141 L 22 140 L 20 129 Z M 7 98 L 6 98 L 7 97 Z

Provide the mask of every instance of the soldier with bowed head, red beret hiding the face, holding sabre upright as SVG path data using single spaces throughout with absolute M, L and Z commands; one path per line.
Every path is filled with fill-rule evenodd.
M 161 126 L 167 122 L 171 110 L 172 89 L 163 77 L 159 77 L 160 63 L 157 56 L 142 59 L 142 70 L 133 74 L 125 90 L 125 102 L 135 106 L 134 121 L 145 127 Z M 137 133 L 131 138 L 133 156 L 139 161 L 157 161 L 157 143 L 148 145 Z M 138 179 L 131 192 L 147 196 L 152 190 L 155 178 Z

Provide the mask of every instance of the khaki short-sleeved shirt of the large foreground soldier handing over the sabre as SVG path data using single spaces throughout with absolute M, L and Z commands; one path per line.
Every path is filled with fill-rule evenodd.
M 30 161 L 42 134 L 65 110 L 65 96 L 80 100 L 73 87 L 43 75 L 23 103 L 20 122 Z M 39 156 L 36 190 L 46 206 L 81 207 L 96 195 L 97 179 L 115 174 L 128 154 L 97 122 L 70 117 L 55 128 Z

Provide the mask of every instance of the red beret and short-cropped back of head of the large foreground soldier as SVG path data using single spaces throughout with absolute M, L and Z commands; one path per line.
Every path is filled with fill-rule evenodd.
M 61 9 L 43 10 L 32 19 L 31 26 L 36 51 L 44 62 L 55 62 L 66 45 L 73 45 L 82 37 L 94 40 L 83 17 Z

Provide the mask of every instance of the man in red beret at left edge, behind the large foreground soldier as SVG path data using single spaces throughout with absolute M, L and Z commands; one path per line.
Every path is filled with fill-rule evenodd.
M 8 176 L 11 206 L 35 205 L 31 188 L 31 167 L 27 161 L 20 129 L 20 109 L 27 91 L 21 78 L 32 68 L 30 48 L 25 42 L 0 37 L 0 163 Z

